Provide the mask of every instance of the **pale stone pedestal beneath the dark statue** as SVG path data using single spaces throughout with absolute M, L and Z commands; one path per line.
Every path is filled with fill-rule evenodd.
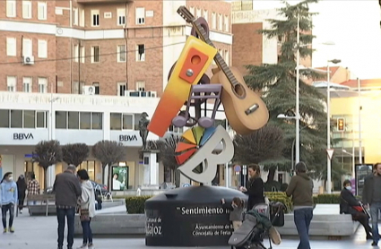
M 143 150 L 144 185 L 160 185 L 156 150 Z

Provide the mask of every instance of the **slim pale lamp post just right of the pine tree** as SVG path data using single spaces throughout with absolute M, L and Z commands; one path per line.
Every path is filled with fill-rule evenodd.
M 332 176 L 331 176 L 331 158 L 328 155 L 328 150 L 331 150 L 331 112 L 330 112 L 330 101 L 331 101 L 331 95 L 330 95 L 330 70 L 329 70 L 329 64 L 338 64 L 341 63 L 341 60 L 338 59 L 333 59 L 333 60 L 328 60 L 327 61 L 327 193 L 332 193 Z

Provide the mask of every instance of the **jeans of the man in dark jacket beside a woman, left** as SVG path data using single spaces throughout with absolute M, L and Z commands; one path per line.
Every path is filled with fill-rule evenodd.
M 65 218 L 67 219 L 67 248 L 73 248 L 74 244 L 74 217 L 75 208 L 56 208 L 56 218 L 58 220 L 58 248 L 64 246 Z

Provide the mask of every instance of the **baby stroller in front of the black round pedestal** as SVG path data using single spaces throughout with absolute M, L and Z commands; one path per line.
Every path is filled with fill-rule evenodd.
M 263 242 L 264 236 L 268 235 L 269 249 L 273 248 L 273 244 L 280 245 L 281 236 L 273 227 L 273 220 L 270 221 L 270 207 L 272 210 L 277 210 L 272 215 L 273 220 L 279 219 L 285 209 L 281 202 L 255 205 L 253 210 L 247 211 L 242 226 L 230 236 L 228 244 L 235 246 L 236 249 L 267 249 Z

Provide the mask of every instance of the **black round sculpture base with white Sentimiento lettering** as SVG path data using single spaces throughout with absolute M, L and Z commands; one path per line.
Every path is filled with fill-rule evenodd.
M 229 210 L 221 199 L 231 202 L 247 195 L 220 186 L 190 186 L 158 194 L 145 202 L 148 246 L 227 246 L 232 234 Z

